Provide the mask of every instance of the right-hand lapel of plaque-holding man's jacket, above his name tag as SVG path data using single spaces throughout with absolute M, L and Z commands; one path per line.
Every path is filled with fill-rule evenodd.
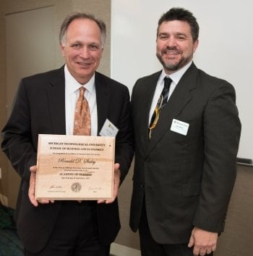
M 108 117 L 108 106 L 110 106 L 110 91 L 106 81 L 99 73 L 95 73 L 95 93 L 98 111 L 98 133 Z

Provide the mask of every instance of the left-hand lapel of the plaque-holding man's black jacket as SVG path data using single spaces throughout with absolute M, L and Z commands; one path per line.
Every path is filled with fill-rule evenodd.
M 64 67 L 48 78 L 48 111 L 54 134 L 66 134 Z

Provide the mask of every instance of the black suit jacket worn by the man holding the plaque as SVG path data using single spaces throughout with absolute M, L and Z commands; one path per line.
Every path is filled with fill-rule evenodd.
M 121 181 L 132 161 L 132 124 L 126 86 L 95 73 L 98 133 L 106 118 L 117 128 L 115 161 Z M 2 149 L 22 178 L 17 200 L 17 231 L 26 249 L 38 252 L 51 235 L 61 202 L 33 207 L 27 196 L 30 166 L 36 165 L 38 133 L 66 134 L 64 68 L 24 78 L 3 131 Z M 97 206 L 100 240 L 110 244 L 119 231 L 118 202 Z

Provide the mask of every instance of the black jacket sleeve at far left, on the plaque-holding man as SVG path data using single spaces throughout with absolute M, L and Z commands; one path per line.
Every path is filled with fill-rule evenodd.
M 25 82 L 21 80 L 12 105 L 12 112 L 2 130 L 1 147 L 14 170 L 27 182 L 30 180 L 30 166 L 36 165 L 36 150 L 30 131 L 30 107 L 25 90 Z

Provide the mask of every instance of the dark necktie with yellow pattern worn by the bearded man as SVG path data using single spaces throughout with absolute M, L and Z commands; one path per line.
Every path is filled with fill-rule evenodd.
M 160 111 L 163 110 L 163 107 L 165 107 L 166 103 L 168 102 L 168 93 L 170 91 L 171 82 L 172 82 L 171 78 L 168 78 L 168 77 L 164 78 L 163 91 L 160 94 L 160 97 L 158 99 L 158 104 L 155 107 L 155 111 L 153 112 L 153 115 L 150 121 L 149 139 L 151 138 L 151 133 L 153 131 L 153 128 L 155 128 L 155 125 L 158 123 Z

